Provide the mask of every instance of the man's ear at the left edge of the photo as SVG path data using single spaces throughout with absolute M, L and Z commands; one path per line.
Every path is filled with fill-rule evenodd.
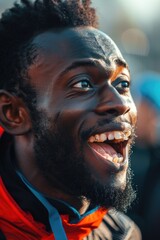
M 31 130 L 27 107 L 21 98 L 0 90 L 0 124 L 12 135 L 23 135 Z

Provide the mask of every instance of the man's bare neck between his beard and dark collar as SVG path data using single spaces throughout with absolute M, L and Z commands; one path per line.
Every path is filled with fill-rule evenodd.
M 51 199 L 58 199 L 68 203 L 80 214 L 87 211 L 90 206 L 89 200 L 64 193 L 60 190 L 61 188 L 54 188 L 42 175 L 34 157 L 32 136 L 16 136 L 14 146 L 19 170 L 38 191 Z

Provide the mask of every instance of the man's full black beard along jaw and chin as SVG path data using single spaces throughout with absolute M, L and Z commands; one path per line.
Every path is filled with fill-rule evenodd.
M 54 127 L 54 131 L 50 130 L 46 127 L 48 120 L 44 124 L 45 119 L 43 114 L 36 113 L 34 148 L 37 164 L 48 183 L 77 198 L 85 197 L 95 206 L 126 211 L 136 196 L 130 168 L 125 189 L 100 183 L 92 177 L 83 149 L 77 152 L 74 140 L 65 134 L 65 129 Z

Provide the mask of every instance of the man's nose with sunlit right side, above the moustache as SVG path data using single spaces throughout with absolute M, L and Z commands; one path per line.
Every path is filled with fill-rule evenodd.
M 117 117 L 129 110 L 128 97 L 120 94 L 114 86 L 107 84 L 99 89 L 99 102 L 95 109 L 97 114 Z

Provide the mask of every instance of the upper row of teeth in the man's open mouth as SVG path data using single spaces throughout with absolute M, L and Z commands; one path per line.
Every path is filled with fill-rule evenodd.
M 127 132 L 122 131 L 112 131 L 112 132 L 106 132 L 101 134 L 96 134 L 94 136 L 91 136 L 88 140 L 88 142 L 104 142 L 106 140 L 128 140 L 128 137 L 131 135 L 131 131 L 128 130 Z

